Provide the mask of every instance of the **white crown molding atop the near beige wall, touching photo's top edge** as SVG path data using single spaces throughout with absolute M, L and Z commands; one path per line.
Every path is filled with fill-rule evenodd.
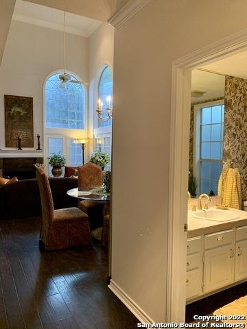
M 130 0 L 123 8 L 110 17 L 108 23 L 119 29 L 150 0 Z

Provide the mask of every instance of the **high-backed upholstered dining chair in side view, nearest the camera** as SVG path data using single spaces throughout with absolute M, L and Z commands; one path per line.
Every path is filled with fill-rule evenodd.
M 40 241 L 46 250 L 91 245 L 89 217 L 80 209 L 54 210 L 49 180 L 43 168 L 36 168 L 42 206 Z

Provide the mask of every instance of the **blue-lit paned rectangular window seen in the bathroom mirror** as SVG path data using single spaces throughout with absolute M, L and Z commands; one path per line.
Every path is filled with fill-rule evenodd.
M 200 193 L 217 194 L 222 171 L 224 104 L 200 109 Z

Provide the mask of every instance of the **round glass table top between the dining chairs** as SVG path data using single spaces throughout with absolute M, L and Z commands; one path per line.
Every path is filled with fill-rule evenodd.
M 110 201 L 110 193 L 106 192 L 104 188 L 92 188 L 86 190 L 85 188 L 75 187 L 67 191 L 70 197 L 77 197 L 78 199 L 91 200 L 91 201 Z

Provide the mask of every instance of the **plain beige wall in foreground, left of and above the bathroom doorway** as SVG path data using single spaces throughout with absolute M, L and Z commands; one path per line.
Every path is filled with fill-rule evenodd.
M 157 322 L 167 310 L 172 61 L 246 28 L 246 12 L 245 0 L 151 0 L 115 32 L 112 278 Z

